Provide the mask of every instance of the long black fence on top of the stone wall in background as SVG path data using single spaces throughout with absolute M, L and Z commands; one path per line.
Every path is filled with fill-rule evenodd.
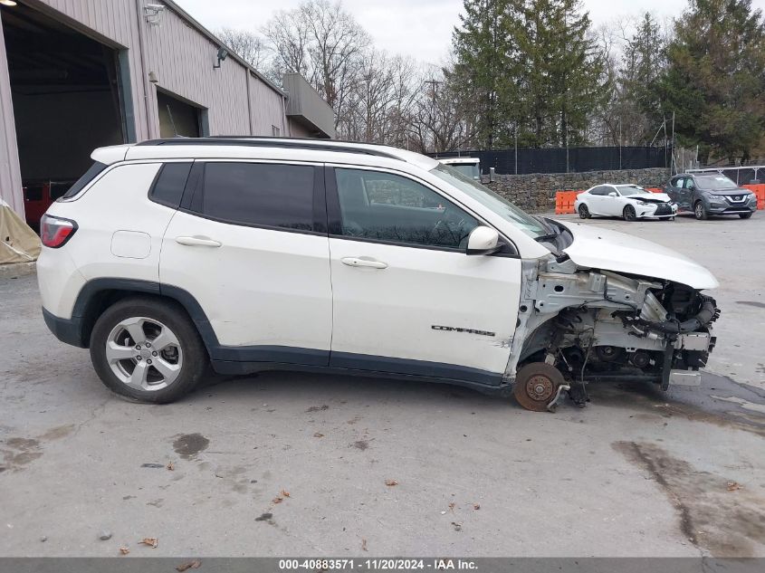
M 573 173 L 612 169 L 669 167 L 671 148 L 543 148 L 446 151 L 428 154 L 434 158 L 481 159 L 481 171 L 494 167 L 498 174 Z M 516 171 L 515 158 L 518 157 Z

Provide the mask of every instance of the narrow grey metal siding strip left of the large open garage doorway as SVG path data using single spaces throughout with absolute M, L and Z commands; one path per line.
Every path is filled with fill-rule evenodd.
M 11 100 L 11 81 L 5 58 L 5 38 L 0 24 L 0 197 L 21 216 L 24 216 L 24 193 L 21 188 L 21 167 L 16 145 L 14 105 Z

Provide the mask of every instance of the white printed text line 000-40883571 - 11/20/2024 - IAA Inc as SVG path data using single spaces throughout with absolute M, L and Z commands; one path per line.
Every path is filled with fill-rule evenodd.
M 471 559 L 280 559 L 279 570 L 475 570 Z

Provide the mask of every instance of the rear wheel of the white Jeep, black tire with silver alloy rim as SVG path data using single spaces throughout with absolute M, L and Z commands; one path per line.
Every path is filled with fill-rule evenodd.
M 91 333 L 91 361 L 112 392 L 154 404 L 191 392 L 209 363 L 186 311 L 151 297 L 129 297 L 104 310 Z

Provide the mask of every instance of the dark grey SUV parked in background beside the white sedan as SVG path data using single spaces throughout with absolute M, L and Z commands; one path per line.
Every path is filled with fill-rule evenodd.
M 672 177 L 665 192 L 680 211 L 693 212 L 697 219 L 709 215 L 739 215 L 749 219 L 757 210 L 757 196 L 719 173 L 684 173 Z

